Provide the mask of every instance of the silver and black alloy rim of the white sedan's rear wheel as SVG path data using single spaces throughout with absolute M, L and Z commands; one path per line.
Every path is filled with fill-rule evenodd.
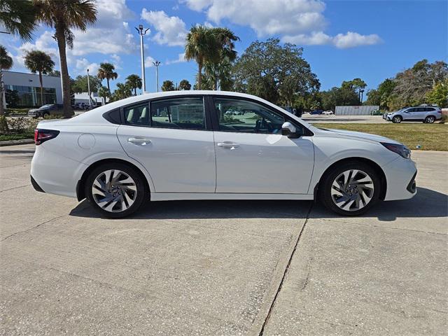
M 94 179 L 92 197 L 94 202 L 105 211 L 125 211 L 137 198 L 137 185 L 125 172 L 109 169 Z

